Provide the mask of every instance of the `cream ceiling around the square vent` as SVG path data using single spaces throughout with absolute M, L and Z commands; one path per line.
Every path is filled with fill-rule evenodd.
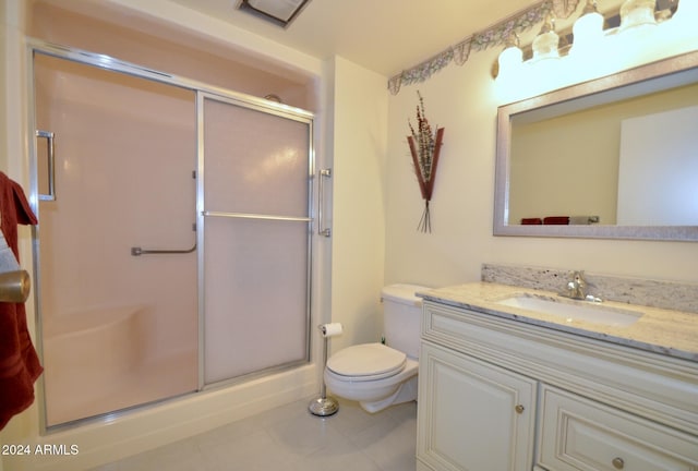
M 387 77 L 538 0 L 311 0 L 285 29 L 237 10 L 239 0 L 168 0 L 325 59 Z

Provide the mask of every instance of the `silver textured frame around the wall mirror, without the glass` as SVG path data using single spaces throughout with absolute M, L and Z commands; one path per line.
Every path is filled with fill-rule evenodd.
M 595 104 L 600 104 L 605 101 L 600 101 L 598 98 L 610 94 L 619 94 L 625 97 L 639 95 L 640 92 L 647 93 L 648 90 L 669 88 L 681 84 L 674 84 L 679 80 L 681 72 L 698 73 L 698 51 L 651 62 L 613 75 L 498 107 L 494 235 L 698 241 L 698 226 L 524 226 L 508 224 L 513 117 L 527 111 L 541 110 L 545 107 L 564 107 L 570 100 L 581 98 L 590 98 Z M 660 86 L 655 83 L 657 81 L 652 82 L 653 78 L 672 78 L 670 80 L 672 84 L 669 87 Z

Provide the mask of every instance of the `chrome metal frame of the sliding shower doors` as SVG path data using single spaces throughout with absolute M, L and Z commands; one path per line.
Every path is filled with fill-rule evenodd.
M 156 71 L 146 67 L 142 67 L 139 64 L 134 64 L 128 61 L 122 61 L 116 58 L 108 57 L 106 55 L 85 51 L 72 47 L 56 45 L 51 43 L 47 43 L 36 38 L 27 38 L 27 56 L 26 56 L 26 64 L 27 64 L 27 96 L 28 96 L 28 112 L 27 112 L 27 130 L 31 131 L 31 135 L 27 136 L 28 143 L 28 165 L 29 165 L 29 204 L 32 209 L 38 215 L 38 204 L 39 200 L 39 182 L 37 176 L 37 166 L 38 166 L 38 156 L 37 156 L 37 135 L 36 135 L 36 96 L 35 96 L 35 70 L 34 70 L 34 57 L 35 55 L 45 55 L 59 59 L 64 59 L 73 62 L 77 62 L 85 65 L 91 65 L 95 68 L 105 69 L 112 72 L 118 72 L 127 75 L 132 75 L 135 77 L 168 84 L 176 87 L 184 88 L 188 90 L 192 90 L 196 95 L 196 116 L 192 117 L 195 120 L 196 129 L 197 129 L 197 143 L 196 143 L 196 245 L 195 250 L 197 252 L 197 285 L 198 285 L 198 301 L 197 301 L 197 318 L 198 318 L 198 388 L 197 392 L 204 391 L 208 389 L 208 386 L 220 386 L 221 384 L 215 385 L 205 385 L 204 383 L 204 302 L 203 297 L 201 295 L 202 289 L 204 287 L 204 276 L 203 276 L 203 261 L 204 261 L 204 218 L 205 217 L 215 217 L 213 213 L 206 214 L 204 208 L 204 148 L 203 148 L 203 126 L 204 126 L 204 117 L 203 117 L 203 100 L 205 98 L 221 100 L 226 102 L 236 104 L 238 106 L 246 107 L 250 109 L 255 109 L 262 112 L 276 114 L 278 117 L 282 117 L 286 119 L 297 120 L 301 122 L 308 123 L 309 126 L 309 201 L 308 201 L 308 217 L 300 218 L 303 222 L 308 224 L 308 269 L 306 269 L 306 286 L 308 290 L 305 293 L 306 297 L 306 328 L 305 328 L 305 360 L 301 362 L 294 362 L 288 365 L 280 365 L 278 367 L 272 369 L 270 371 L 284 370 L 298 366 L 299 363 L 308 363 L 311 359 L 311 340 L 310 340 L 310 323 L 311 323 L 311 306 L 312 303 L 312 286 L 313 286 L 313 222 L 314 217 L 313 214 L 315 212 L 315 206 L 313 204 L 314 201 L 314 173 L 315 173 L 315 149 L 314 149 L 314 114 L 310 111 L 302 110 L 300 108 L 290 107 L 282 104 L 277 104 L 274 101 L 269 101 L 260 97 L 229 90 L 222 87 L 212 86 L 209 84 L 186 78 L 183 76 L 169 74 L 161 71 Z M 40 137 L 40 136 L 39 136 Z M 231 215 L 228 215 L 230 217 Z M 244 217 L 256 217 L 256 215 L 244 215 Z M 43 329 L 41 329 L 41 301 L 40 301 L 40 261 L 39 261 L 39 228 L 33 228 L 33 261 L 34 261 L 34 305 L 35 305 L 35 322 L 36 322 L 36 343 L 37 350 L 39 353 L 39 358 L 44 358 L 43 351 Z M 136 247 L 137 249 L 137 247 Z M 145 254 L 147 251 L 143 251 L 142 254 Z M 140 255 L 140 254 L 137 254 Z M 270 371 L 264 371 L 260 374 L 266 374 Z M 242 379 L 246 378 L 243 377 Z M 240 378 L 239 378 L 240 379 Z M 236 379 L 236 381 L 239 381 Z M 229 382 L 222 382 L 229 383 Z M 79 420 L 75 422 L 71 422 L 70 424 L 63 425 L 55 425 L 51 427 L 47 426 L 46 421 L 46 391 L 44 386 L 43 377 L 39 379 L 39 428 L 41 434 L 46 434 L 47 432 L 53 432 L 56 430 L 63 430 L 65 427 L 74 427 L 80 426 L 85 422 L 109 422 L 113 420 L 115 416 L 119 416 L 123 413 L 129 413 L 131 409 L 108 412 L 96 418 L 88 418 L 84 420 Z M 197 394 L 192 392 L 192 394 Z M 170 398 L 163 399 L 163 401 L 167 401 Z M 158 401 L 156 403 L 141 404 L 135 408 L 149 408 L 157 407 L 157 404 L 161 402 Z

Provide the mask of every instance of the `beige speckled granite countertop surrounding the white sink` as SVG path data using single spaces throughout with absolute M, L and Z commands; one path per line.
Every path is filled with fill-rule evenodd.
M 425 300 L 441 302 L 455 307 L 471 309 L 484 314 L 509 318 L 526 324 L 698 362 L 698 314 L 696 313 L 612 301 L 602 302 L 599 305 L 604 309 L 642 313 L 642 316 L 631 325 L 611 326 L 578 321 L 576 318 L 569 321 L 565 318 L 565 316 L 545 314 L 498 303 L 498 301 L 506 298 L 522 294 L 556 298 L 565 303 L 590 304 L 588 301 L 574 301 L 558 297 L 557 293 L 552 291 L 494 282 L 473 282 L 418 293 L 418 295 Z

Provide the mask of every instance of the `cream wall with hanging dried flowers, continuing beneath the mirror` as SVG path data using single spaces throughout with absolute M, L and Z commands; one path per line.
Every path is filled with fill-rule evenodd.
M 495 48 L 496 49 L 496 48 Z M 518 264 L 698 282 L 698 244 L 493 237 L 497 98 L 490 74 L 498 49 L 472 52 L 389 98 L 386 282 L 447 286 L 480 279 L 483 263 Z M 406 143 L 417 90 L 430 122 L 444 126 L 431 234 L 416 230 L 422 202 Z

